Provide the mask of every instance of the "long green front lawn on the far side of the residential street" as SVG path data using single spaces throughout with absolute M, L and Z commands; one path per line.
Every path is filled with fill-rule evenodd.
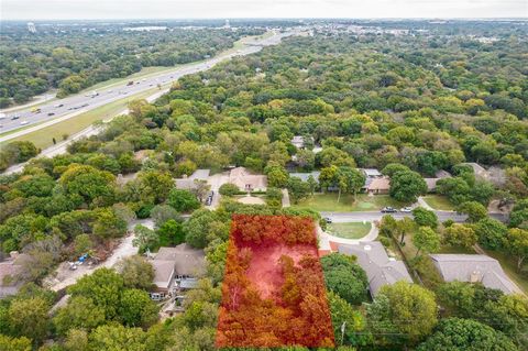
M 394 208 L 403 207 L 404 204 L 392 199 L 388 195 L 367 196 L 359 194 L 354 201 L 354 196 L 350 194 L 341 195 L 338 202 L 338 194 L 316 194 L 297 205 L 296 208 L 312 209 L 323 212 L 354 212 L 354 211 L 377 211 L 383 207 L 392 206 Z

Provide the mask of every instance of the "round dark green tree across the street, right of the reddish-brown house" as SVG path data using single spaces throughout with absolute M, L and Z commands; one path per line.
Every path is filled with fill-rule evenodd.
M 426 180 L 416 172 L 397 172 L 391 178 L 391 197 L 403 202 L 415 202 L 427 193 Z

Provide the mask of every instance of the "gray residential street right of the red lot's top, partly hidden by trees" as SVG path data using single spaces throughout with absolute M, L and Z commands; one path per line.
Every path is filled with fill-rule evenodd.
M 465 215 L 458 215 L 457 212 L 451 211 L 435 211 L 438 219 L 443 222 L 448 219 L 452 219 L 455 222 L 464 222 L 468 219 Z M 395 219 L 402 219 L 404 217 L 413 217 L 413 213 L 382 213 L 380 211 L 367 211 L 367 212 L 321 212 L 322 217 L 328 217 L 334 222 L 361 222 L 374 220 L 381 220 L 384 215 L 391 215 Z M 507 216 L 503 213 L 488 213 L 490 217 L 497 219 L 499 221 L 506 222 Z

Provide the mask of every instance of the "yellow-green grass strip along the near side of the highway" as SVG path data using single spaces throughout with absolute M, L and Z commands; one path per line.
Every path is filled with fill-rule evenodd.
M 76 117 L 73 117 L 66 121 L 43 128 L 32 133 L 11 139 L 2 144 L 8 144 L 13 141 L 31 141 L 35 144 L 36 147 L 45 149 L 53 145 L 53 138 L 57 142 L 63 140 L 64 134 L 73 135 L 80 132 L 81 130 L 88 128 L 97 121 L 106 120 L 112 118 L 127 109 L 127 106 L 130 100 L 133 99 L 144 99 L 157 91 L 157 88 L 127 97 L 124 99 L 107 103 L 105 106 L 98 107 L 94 110 L 90 110 L 85 113 L 80 113 Z M 35 124 L 37 125 L 37 124 Z M 34 127 L 34 125 L 31 125 Z M 2 146 L 0 144 L 0 147 Z

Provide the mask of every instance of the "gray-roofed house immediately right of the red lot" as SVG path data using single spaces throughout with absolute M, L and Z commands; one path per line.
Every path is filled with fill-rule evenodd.
M 338 252 L 358 257 L 358 264 L 369 278 L 372 297 L 375 297 L 384 285 L 393 285 L 399 281 L 413 283 L 404 262 L 389 257 L 378 241 L 338 244 Z

